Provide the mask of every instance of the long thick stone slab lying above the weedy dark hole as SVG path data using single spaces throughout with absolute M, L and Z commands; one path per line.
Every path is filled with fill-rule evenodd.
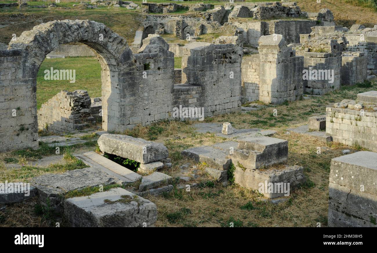
M 135 160 L 139 163 L 150 163 L 166 159 L 167 148 L 161 143 L 134 138 L 128 135 L 104 133 L 98 138 L 102 152 Z

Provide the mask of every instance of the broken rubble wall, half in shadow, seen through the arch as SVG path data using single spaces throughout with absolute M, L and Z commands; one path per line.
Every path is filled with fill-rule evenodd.
M 62 90 L 38 110 L 38 129 L 54 133 L 82 130 L 90 117 L 90 104 L 86 90 Z

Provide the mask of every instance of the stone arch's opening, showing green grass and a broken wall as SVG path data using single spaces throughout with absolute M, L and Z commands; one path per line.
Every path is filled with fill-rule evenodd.
M 102 127 L 101 65 L 82 43 L 60 45 L 37 74 L 39 136 Z

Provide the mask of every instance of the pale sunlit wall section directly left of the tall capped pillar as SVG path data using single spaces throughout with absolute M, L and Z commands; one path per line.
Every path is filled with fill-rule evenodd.
M 259 54 L 244 56 L 242 69 L 242 103 L 259 100 Z

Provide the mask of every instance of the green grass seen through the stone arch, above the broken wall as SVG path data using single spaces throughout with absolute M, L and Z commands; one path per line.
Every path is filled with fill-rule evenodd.
M 69 80 L 44 80 L 44 70 L 75 69 L 76 81 Z M 37 75 L 37 107 L 55 96 L 61 90 L 74 91 L 87 90 L 91 98 L 101 97 L 101 65 L 97 57 L 67 57 L 58 59 L 45 59 Z

